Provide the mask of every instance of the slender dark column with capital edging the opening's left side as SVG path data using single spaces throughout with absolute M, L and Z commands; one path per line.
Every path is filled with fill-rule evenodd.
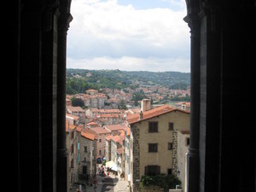
M 73 19 L 69 14 L 70 2 L 61 2 L 58 20 L 58 65 L 57 65 L 57 191 L 67 189 L 67 147 L 66 147 L 66 57 L 67 29 Z

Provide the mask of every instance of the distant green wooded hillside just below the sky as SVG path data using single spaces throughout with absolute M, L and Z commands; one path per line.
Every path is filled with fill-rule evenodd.
M 139 84 L 157 84 L 174 90 L 186 90 L 190 84 L 190 73 L 67 68 L 67 94 L 84 92 L 87 89 L 134 89 Z

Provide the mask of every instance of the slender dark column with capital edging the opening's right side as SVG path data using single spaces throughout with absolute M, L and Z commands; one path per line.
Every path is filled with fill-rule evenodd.
M 190 143 L 187 164 L 188 192 L 199 191 L 199 120 L 200 120 L 200 23 L 199 3 L 187 2 L 188 15 L 184 20 L 191 29 L 190 61 Z

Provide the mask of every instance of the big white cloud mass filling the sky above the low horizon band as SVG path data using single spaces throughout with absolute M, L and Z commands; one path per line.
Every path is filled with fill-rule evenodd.
M 183 21 L 186 9 L 135 9 L 117 0 L 73 0 L 71 14 L 67 57 L 72 61 L 112 58 L 108 65 L 112 67 L 116 58 L 120 67 L 125 63 L 119 58 L 189 59 L 189 27 Z

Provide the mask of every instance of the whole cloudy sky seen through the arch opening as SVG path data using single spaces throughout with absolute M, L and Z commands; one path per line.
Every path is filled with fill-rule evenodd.
M 190 72 L 185 0 L 73 0 L 67 68 Z

